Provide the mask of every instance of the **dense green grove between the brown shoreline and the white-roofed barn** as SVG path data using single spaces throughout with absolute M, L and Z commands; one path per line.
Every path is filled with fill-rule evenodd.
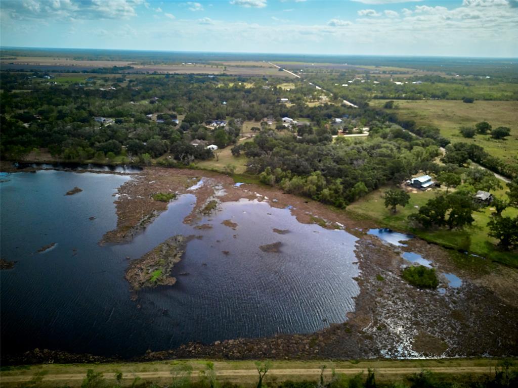
M 333 142 L 325 126 L 299 138 L 265 130 L 232 152 L 244 153 L 248 171 L 265 184 L 344 207 L 387 182 L 400 183 L 427 169 L 439 155 L 430 139 L 415 138 L 390 123 L 370 124 L 369 141 Z

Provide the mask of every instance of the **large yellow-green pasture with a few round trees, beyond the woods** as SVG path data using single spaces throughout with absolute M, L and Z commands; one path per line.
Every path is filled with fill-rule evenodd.
M 372 106 L 383 107 L 387 100 L 372 100 Z M 417 125 L 433 125 L 441 135 L 454 142 L 474 143 L 484 147 L 493 156 L 511 162 L 518 153 L 518 101 L 475 101 L 464 103 L 455 100 L 395 100 L 393 111 L 401 119 L 414 120 Z M 493 140 L 488 135 L 472 139 L 461 136 L 461 126 L 474 126 L 487 121 L 493 128 L 509 127 L 511 136 L 506 140 Z

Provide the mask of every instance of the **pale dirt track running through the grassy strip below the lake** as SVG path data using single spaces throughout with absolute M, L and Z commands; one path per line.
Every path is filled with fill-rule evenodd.
M 86 368 L 86 367 L 85 367 Z M 376 368 L 378 375 L 410 375 L 421 372 L 422 368 L 402 367 L 402 368 Z M 426 370 L 430 370 L 436 373 L 446 374 L 485 374 L 490 372 L 490 368 L 479 367 L 479 366 L 459 366 L 459 367 L 428 367 Z M 345 375 L 356 375 L 362 371 L 366 371 L 364 368 L 347 368 L 347 369 L 335 369 L 335 372 Z M 23 371 L 22 371 L 23 372 Z M 315 377 L 320 376 L 320 369 L 271 369 L 268 371 L 267 376 L 307 376 Z M 326 370 L 325 376 L 330 376 L 332 372 Z M 195 377 L 197 371 L 193 371 L 193 377 Z M 233 369 L 233 370 L 218 370 L 216 371 L 218 377 L 240 377 L 240 376 L 257 376 L 255 369 Z M 171 378 L 169 371 L 154 371 L 154 372 L 136 372 L 135 374 L 126 373 L 123 375 L 124 379 L 133 380 L 136 376 L 145 380 L 160 379 L 160 378 Z M 44 375 L 42 381 L 74 381 L 82 380 L 85 377 L 85 373 L 82 374 L 56 374 L 56 375 Z M 106 373 L 104 377 L 107 379 L 115 379 L 115 374 Z M 0 383 L 22 383 L 33 379 L 30 375 L 0 375 Z

